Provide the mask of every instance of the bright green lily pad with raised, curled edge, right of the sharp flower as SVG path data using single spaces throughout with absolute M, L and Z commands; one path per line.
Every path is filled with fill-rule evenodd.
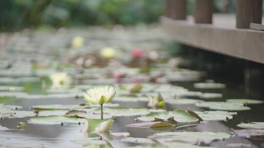
M 145 116 L 138 117 L 138 120 L 141 121 L 154 121 L 155 118 L 159 118 L 162 120 L 167 120 L 168 118 L 174 117 L 174 119 L 178 123 L 195 123 L 198 122 L 198 118 L 194 115 L 191 115 L 185 110 L 175 110 L 175 111 L 166 111 L 166 112 L 160 112 L 160 113 L 150 113 Z

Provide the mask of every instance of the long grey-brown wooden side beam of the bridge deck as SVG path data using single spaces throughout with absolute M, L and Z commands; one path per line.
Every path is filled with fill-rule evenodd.
M 162 17 L 161 22 L 164 31 L 178 42 L 264 64 L 264 32 L 262 31 L 221 28 L 166 17 Z

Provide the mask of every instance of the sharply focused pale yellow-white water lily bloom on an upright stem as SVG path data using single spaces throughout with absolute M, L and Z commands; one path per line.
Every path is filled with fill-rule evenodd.
M 112 86 L 91 88 L 84 94 L 84 100 L 94 105 L 109 103 L 114 97 L 116 91 Z

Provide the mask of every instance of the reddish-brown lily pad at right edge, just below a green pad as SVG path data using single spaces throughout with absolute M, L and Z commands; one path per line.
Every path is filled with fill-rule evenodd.
M 239 137 L 264 140 L 264 130 L 259 129 L 231 129 L 231 132 Z

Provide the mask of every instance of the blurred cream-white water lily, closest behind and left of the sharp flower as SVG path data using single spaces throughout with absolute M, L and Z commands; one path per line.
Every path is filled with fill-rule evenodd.
M 49 78 L 52 81 L 52 89 L 68 88 L 72 82 L 71 77 L 67 73 L 54 73 Z

